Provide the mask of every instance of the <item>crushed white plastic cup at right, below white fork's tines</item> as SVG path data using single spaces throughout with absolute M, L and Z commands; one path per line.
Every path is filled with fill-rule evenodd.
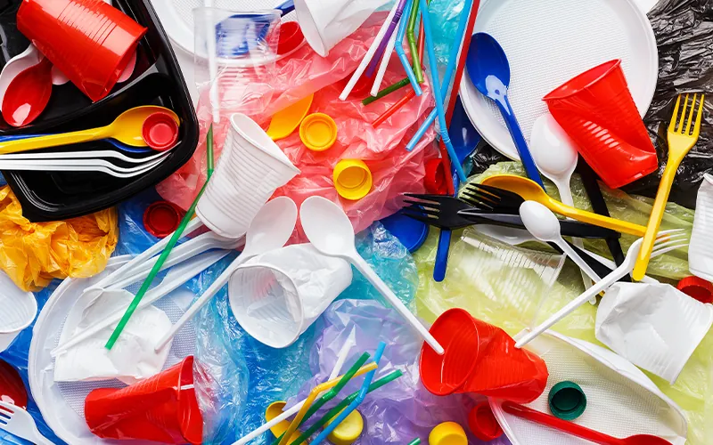
M 597 340 L 675 384 L 713 324 L 713 305 L 668 284 L 617 283 L 596 312 Z

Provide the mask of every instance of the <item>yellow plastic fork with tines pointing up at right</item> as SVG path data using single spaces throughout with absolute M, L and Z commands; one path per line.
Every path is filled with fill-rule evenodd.
M 698 113 L 696 113 L 695 125 L 693 125 L 693 128 L 693 111 L 696 110 L 696 100 L 698 99 L 698 94 L 693 94 L 691 109 L 688 110 L 688 117 L 686 117 L 688 98 L 689 94 L 686 94 L 684 99 L 684 109 L 681 111 L 679 118 L 678 109 L 681 105 L 681 95 L 678 96 L 678 99 L 676 100 L 676 108 L 674 109 L 674 116 L 671 117 L 671 125 L 668 125 L 668 163 L 666 164 L 666 170 L 664 170 L 663 177 L 661 178 L 659 192 L 656 194 L 656 202 L 653 203 L 652 215 L 649 218 L 649 224 L 646 227 L 646 235 L 643 237 L 643 246 L 641 247 L 639 255 L 636 258 L 636 265 L 634 266 L 634 272 L 632 273 L 632 277 L 636 281 L 641 281 L 643 279 L 644 275 L 646 275 L 646 269 L 649 267 L 653 243 L 656 241 L 656 233 L 659 232 L 661 219 L 663 219 L 663 213 L 666 209 L 666 203 L 668 202 L 668 194 L 671 192 L 671 187 L 673 186 L 674 179 L 676 178 L 678 166 L 680 166 L 681 162 L 683 162 L 685 155 L 693 149 L 693 145 L 698 142 L 698 136 L 701 134 L 703 102 L 705 101 L 706 96 L 705 94 L 701 94 L 700 105 L 698 106 Z

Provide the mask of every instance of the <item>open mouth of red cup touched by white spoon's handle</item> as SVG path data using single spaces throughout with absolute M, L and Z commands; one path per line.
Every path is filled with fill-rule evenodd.
M 461 329 L 455 329 L 455 326 Z M 475 371 L 478 365 L 479 351 L 471 350 L 469 354 L 463 354 L 463 351 L 457 351 L 452 346 L 455 340 L 461 339 L 463 336 L 477 337 L 479 335 L 477 320 L 463 309 L 449 309 L 438 317 L 429 332 L 443 346 L 445 352 L 443 355 L 438 355 L 438 352 L 433 351 L 429 344 L 423 344 L 419 360 L 422 384 L 429 392 L 436 395 L 453 394 L 468 381 Z M 446 368 L 446 362 L 454 359 L 463 360 L 462 369 L 458 373 L 456 381 L 445 382 L 441 376 Z M 431 372 L 433 369 L 440 369 L 441 375 Z

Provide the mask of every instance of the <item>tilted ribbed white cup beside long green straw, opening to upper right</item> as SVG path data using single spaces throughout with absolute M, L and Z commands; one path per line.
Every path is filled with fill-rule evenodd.
M 196 206 L 196 214 L 211 231 L 241 238 L 275 190 L 299 174 L 270 136 L 242 114 L 231 127 L 216 171 Z

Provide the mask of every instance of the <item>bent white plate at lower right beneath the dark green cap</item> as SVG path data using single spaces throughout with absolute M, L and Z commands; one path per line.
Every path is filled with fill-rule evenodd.
M 683 410 L 616 353 L 553 331 L 538 336 L 525 349 L 542 357 L 550 373 L 545 392 L 529 408 L 550 414 L 547 399 L 553 385 L 572 381 L 586 394 L 586 410 L 576 424 L 618 438 L 652 434 L 673 445 L 685 444 L 688 424 Z M 490 407 L 512 445 L 591 443 L 507 414 L 501 401 L 491 400 Z

